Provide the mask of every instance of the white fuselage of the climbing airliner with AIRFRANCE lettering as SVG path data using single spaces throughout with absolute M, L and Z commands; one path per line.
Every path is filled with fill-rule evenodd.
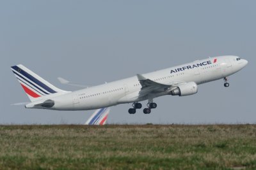
M 236 73 L 246 66 L 244 59 L 236 60 L 236 56 L 226 55 L 196 60 L 188 64 L 170 67 L 152 73 L 143 74 L 157 83 L 179 85 L 180 83 L 195 82 L 197 85 L 209 81 L 219 80 Z M 149 99 L 149 96 L 140 97 L 141 84 L 137 76 L 125 78 L 87 89 L 68 92 L 60 96 L 48 96 L 54 101 L 51 110 L 94 110 L 123 103 L 134 103 Z M 150 96 L 150 99 L 170 94 L 159 92 Z M 45 101 L 45 99 L 44 99 Z M 42 101 L 37 101 L 40 103 Z M 34 108 L 27 104 L 26 108 Z

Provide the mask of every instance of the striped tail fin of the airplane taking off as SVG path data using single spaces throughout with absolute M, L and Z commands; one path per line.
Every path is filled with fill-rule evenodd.
M 33 73 L 33 71 L 29 70 L 27 67 L 22 66 L 22 64 L 12 66 L 11 69 L 32 102 L 38 100 L 42 96 L 65 92 L 65 90 L 58 89 L 48 81 L 44 80 L 44 78 L 38 76 L 38 74 Z

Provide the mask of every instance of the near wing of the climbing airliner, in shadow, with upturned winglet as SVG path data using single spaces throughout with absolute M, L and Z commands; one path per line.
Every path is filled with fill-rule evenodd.
M 168 84 L 164 84 L 164 83 L 157 83 L 156 81 L 145 78 L 145 76 L 141 74 L 137 74 L 137 77 L 141 84 L 141 90 L 139 92 L 140 97 L 150 95 L 150 94 L 154 95 L 161 92 L 169 92 L 173 88 L 177 87 L 177 85 L 186 83 L 183 81 L 172 81 Z

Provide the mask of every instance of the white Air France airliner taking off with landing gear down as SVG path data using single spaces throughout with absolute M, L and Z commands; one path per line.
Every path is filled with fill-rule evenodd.
M 143 113 L 148 114 L 157 108 L 153 101 L 156 97 L 193 95 L 198 92 L 198 85 L 220 79 L 229 87 L 227 77 L 246 64 L 247 60 L 234 55 L 209 57 L 74 92 L 58 89 L 21 64 L 11 69 L 31 101 L 25 108 L 95 110 L 132 103 L 128 112 L 134 114 L 142 108 L 140 102 L 147 100 Z

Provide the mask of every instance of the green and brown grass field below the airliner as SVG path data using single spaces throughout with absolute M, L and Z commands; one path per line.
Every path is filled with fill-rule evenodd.
M 0 169 L 256 169 L 256 125 L 0 125 Z

